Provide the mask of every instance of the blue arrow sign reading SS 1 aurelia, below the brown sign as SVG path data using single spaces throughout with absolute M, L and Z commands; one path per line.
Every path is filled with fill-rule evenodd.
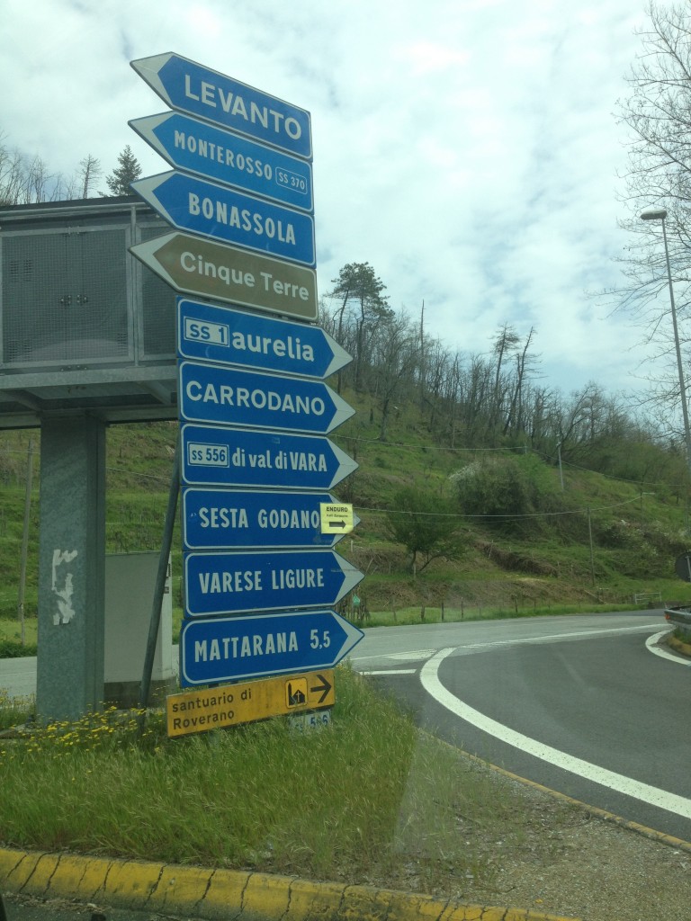
M 178 297 L 178 353 L 220 365 L 328 378 L 352 360 L 319 326 Z

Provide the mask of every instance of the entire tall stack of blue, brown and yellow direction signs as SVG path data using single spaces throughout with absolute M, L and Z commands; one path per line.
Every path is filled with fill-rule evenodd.
M 324 492 L 357 468 L 323 437 L 354 412 L 323 382 L 350 356 L 310 325 L 309 112 L 178 54 L 132 66 L 177 111 L 130 122 L 174 168 L 132 188 L 176 228 L 131 251 L 216 302 L 178 298 L 181 683 L 264 679 L 170 697 L 184 735 L 334 703 L 363 635 L 328 610 L 364 577 L 333 550 L 357 516 Z

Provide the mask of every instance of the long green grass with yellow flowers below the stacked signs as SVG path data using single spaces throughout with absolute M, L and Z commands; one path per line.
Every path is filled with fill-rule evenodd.
M 0 738 L 0 842 L 392 884 L 404 855 L 429 886 L 448 861 L 488 879 L 488 842 L 522 834 L 518 794 L 351 670 L 336 699 L 305 734 L 281 717 L 169 740 L 159 715 L 140 736 L 135 713 L 107 711 Z M 483 834 L 460 836 L 459 815 Z

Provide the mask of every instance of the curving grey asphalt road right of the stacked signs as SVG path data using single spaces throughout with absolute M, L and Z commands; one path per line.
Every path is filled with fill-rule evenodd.
M 421 726 L 493 764 L 691 841 L 691 670 L 662 612 L 368 631 L 353 651 Z

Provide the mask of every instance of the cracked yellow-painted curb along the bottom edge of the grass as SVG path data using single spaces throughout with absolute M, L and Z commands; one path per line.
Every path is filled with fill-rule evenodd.
M 209 921 L 574 921 L 297 877 L 0 848 L 0 891 Z

